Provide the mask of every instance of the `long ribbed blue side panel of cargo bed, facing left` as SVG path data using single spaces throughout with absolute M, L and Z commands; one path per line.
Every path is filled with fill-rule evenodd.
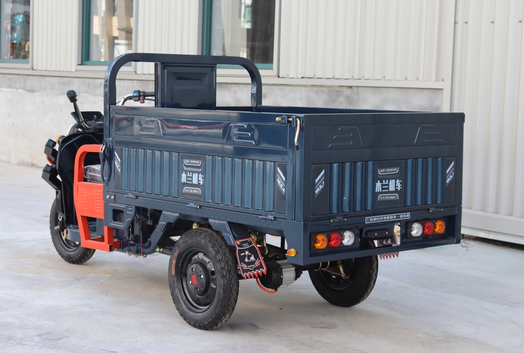
M 115 166 L 119 190 L 286 213 L 285 163 L 115 147 Z

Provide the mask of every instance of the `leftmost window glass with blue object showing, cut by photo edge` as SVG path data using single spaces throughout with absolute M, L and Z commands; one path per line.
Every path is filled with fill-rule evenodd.
M 30 0 L 0 0 L 0 59 L 29 59 Z

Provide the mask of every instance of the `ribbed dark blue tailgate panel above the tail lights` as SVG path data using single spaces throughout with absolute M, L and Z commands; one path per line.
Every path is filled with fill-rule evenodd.
M 455 202 L 455 167 L 456 157 L 314 164 L 312 215 Z

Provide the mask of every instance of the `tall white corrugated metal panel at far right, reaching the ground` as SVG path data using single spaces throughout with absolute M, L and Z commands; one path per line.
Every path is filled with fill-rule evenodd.
M 457 0 L 452 87 L 453 111 L 466 114 L 463 232 L 520 243 L 524 243 L 523 19 L 524 0 Z

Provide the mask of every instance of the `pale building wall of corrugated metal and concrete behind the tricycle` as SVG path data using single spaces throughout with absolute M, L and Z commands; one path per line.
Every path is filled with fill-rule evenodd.
M 465 234 L 524 243 L 524 0 L 276 0 L 264 104 L 466 113 Z M 41 166 L 72 123 L 65 92 L 102 110 L 105 67 L 80 64 L 81 1 L 32 0 L 29 64 L 0 63 L 0 161 Z M 199 0 L 135 0 L 134 50 L 198 54 Z M 152 88 L 122 69 L 117 95 Z M 219 105 L 249 103 L 219 70 Z

